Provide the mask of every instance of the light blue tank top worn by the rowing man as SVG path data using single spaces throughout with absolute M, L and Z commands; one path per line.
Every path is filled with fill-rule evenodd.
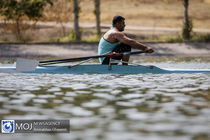
M 102 37 L 98 45 L 98 55 L 103 55 L 111 52 L 118 44 L 120 44 L 120 42 L 110 43 Z M 105 57 L 99 58 L 100 64 L 102 64 L 104 59 Z

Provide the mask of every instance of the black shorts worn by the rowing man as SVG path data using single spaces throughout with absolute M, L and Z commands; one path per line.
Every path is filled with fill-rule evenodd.
M 116 52 L 116 53 L 123 53 L 123 52 L 130 52 L 130 51 L 131 51 L 131 46 L 126 45 L 126 44 L 123 44 L 123 43 L 120 43 L 119 45 L 117 45 L 112 50 L 112 52 Z M 121 60 L 122 59 L 122 56 L 116 56 L 116 57 L 113 57 L 112 59 Z M 108 65 L 109 64 L 109 61 L 110 61 L 110 58 L 109 57 L 105 57 L 105 59 L 102 62 L 102 64 L 103 65 Z

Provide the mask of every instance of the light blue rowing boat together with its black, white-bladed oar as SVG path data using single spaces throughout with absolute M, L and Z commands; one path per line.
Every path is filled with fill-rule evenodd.
M 36 61 L 28 59 L 17 59 L 16 67 L 0 67 L 0 72 L 6 73 L 56 73 L 56 74 L 140 74 L 140 73 L 210 73 L 210 69 L 163 69 L 156 66 L 143 65 L 109 65 L 86 64 L 73 66 L 55 66 L 54 64 L 69 63 L 100 57 L 124 56 L 146 53 L 144 51 L 109 53 L 97 56 Z M 51 65 L 51 66 L 49 66 Z M 52 66 L 54 65 L 54 66 Z

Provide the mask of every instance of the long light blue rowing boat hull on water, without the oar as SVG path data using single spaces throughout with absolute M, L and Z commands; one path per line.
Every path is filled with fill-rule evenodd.
M 0 72 L 17 73 L 16 67 L 1 67 Z M 163 69 L 156 66 L 143 65 L 99 65 L 84 64 L 77 66 L 38 66 L 32 71 L 21 73 L 51 73 L 51 74 L 169 74 L 169 73 L 210 73 L 210 69 Z

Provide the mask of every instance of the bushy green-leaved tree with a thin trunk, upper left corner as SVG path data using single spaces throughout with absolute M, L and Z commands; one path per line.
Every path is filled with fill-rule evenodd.
M 15 33 L 21 39 L 21 20 L 24 17 L 37 21 L 42 17 L 44 6 L 51 0 L 0 0 L 0 15 L 15 22 Z

